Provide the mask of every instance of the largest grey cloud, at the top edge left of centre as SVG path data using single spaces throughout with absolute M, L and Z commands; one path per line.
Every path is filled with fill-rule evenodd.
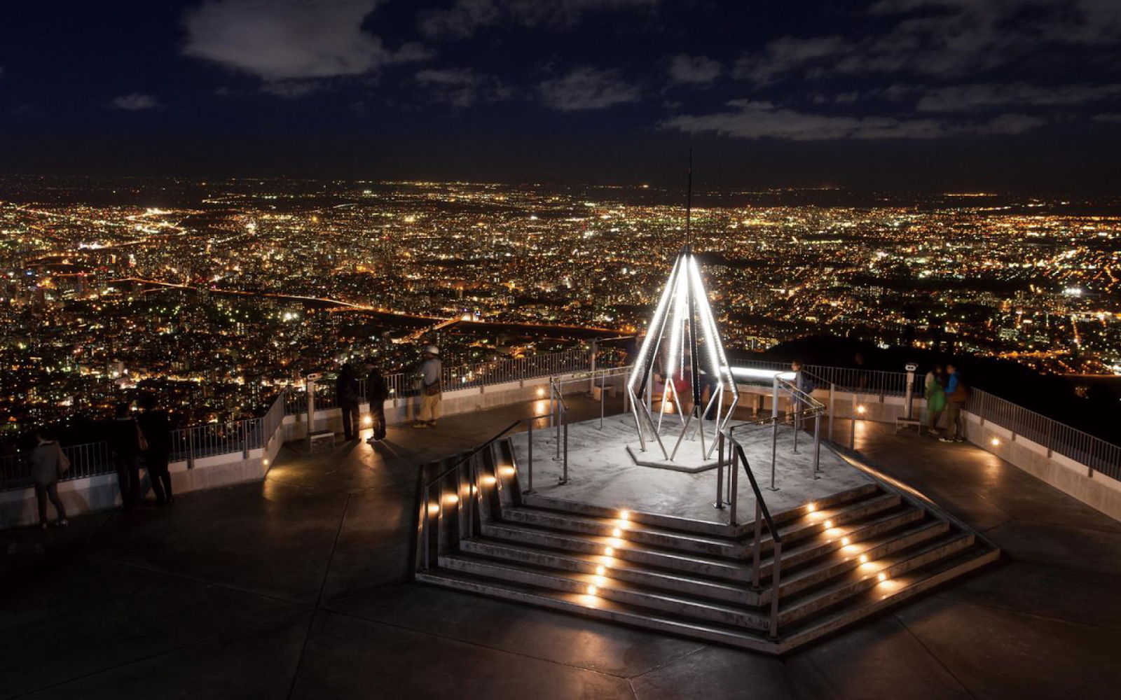
M 269 83 L 360 75 L 425 58 L 387 48 L 362 22 L 378 0 L 206 0 L 184 16 L 183 53 Z M 279 88 L 284 90 L 284 88 Z

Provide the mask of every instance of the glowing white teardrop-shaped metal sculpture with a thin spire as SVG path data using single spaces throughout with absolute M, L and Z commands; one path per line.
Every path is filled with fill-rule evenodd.
M 692 179 L 691 167 L 691 190 Z M 691 214 L 692 192 L 686 208 L 686 241 Z M 651 410 L 656 374 L 664 382 L 657 419 Z M 724 356 L 720 329 L 689 243 L 682 248 L 674 262 L 627 382 L 627 392 L 641 451 L 647 450 L 648 444 L 656 444 L 663 458 L 674 461 L 682 442 L 693 441 L 696 436 L 700 454 L 693 455 L 693 459 L 712 458 L 716 435 L 735 411 L 740 393 Z M 674 428 L 667 426 L 664 430 L 670 402 L 677 407 L 680 427 L 678 429 L 677 421 L 670 418 L 668 422 Z M 671 449 L 667 450 L 664 436 L 674 440 Z

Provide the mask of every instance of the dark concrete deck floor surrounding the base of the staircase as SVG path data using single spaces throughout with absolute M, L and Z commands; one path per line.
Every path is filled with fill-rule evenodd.
M 863 456 L 1009 561 L 785 659 L 404 584 L 417 465 L 531 410 L 391 429 L 378 450 L 286 449 L 263 483 L 0 532 L 0 697 L 1118 697 L 1121 523 L 982 450 L 876 424 Z

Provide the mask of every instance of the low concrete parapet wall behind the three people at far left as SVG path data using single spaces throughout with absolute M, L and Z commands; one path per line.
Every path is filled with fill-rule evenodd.
M 279 441 L 274 440 L 274 442 L 276 442 L 276 447 L 271 457 L 267 457 L 266 450 L 261 449 L 249 450 L 248 459 L 243 458 L 242 452 L 214 455 L 196 459 L 194 468 L 189 469 L 186 460 L 173 461 L 168 466 L 172 473 L 172 491 L 178 495 L 201 488 L 260 480 L 265 478 L 267 470 L 265 459 L 271 461 L 272 457 L 276 456 L 276 450 L 279 449 Z M 148 495 L 151 492 L 151 482 L 142 467 L 140 469 L 140 489 L 142 495 Z M 61 482 L 58 497 L 66 507 L 68 517 L 111 510 L 121 505 L 115 474 Z M 50 504 L 47 504 L 47 517 L 52 521 L 55 517 L 55 507 Z M 0 492 L 0 528 L 34 525 L 38 522 L 39 511 L 34 487 L 27 486 L 26 488 Z

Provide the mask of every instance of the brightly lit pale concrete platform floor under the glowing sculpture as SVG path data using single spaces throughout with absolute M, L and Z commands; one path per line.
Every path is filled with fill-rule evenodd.
M 676 417 L 670 418 L 676 419 Z M 813 423 L 809 424 L 812 427 Z M 679 424 L 675 426 L 678 427 Z M 676 432 L 664 432 L 666 437 L 663 439 L 677 439 Z M 716 510 L 712 506 L 716 500 L 715 469 L 689 474 L 636 465 L 627 452 L 628 445 L 638 448 L 636 435 L 634 419 L 628 414 L 606 417 L 602 428 L 599 418 L 569 424 L 568 482 L 560 485 L 558 482 L 564 463 L 556 459 L 556 432 L 535 430 L 534 489 L 543 496 L 562 501 L 708 522 L 728 522 L 730 510 L 726 507 Z M 872 480 L 824 442 L 818 456 L 818 478 L 814 478 L 813 436 L 803 430 L 798 435 L 798 451 L 795 452 L 794 429 L 782 426 L 778 430 L 776 440 L 775 486 L 778 491 L 769 491 L 771 429 L 756 427 L 752 431 L 741 430 L 736 432 L 736 439 L 742 442 L 752 474 L 763 489 L 763 501 L 771 513 L 796 508 L 823 496 L 858 488 Z M 522 484 L 527 483 L 528 476 L 528 435 L 518 435 L 513 438 L 515 456 L 520 469 L 519 479 Z M 700 444 L 695 439 L 683 440 L 679 455 L 685 455 L 687 448 L 692 448 L 697 455 L 701 454 Z M 673 449 L 671 441 L 666 444 L 666 449 Z M 648 447 L 648 452 L 657 451 L 656 446 Z M 751 484 L 743 478 L 742 472 L 739 477 L 736 507 L 740 522 L 743 522 L 754 513 L 756 498 Z

